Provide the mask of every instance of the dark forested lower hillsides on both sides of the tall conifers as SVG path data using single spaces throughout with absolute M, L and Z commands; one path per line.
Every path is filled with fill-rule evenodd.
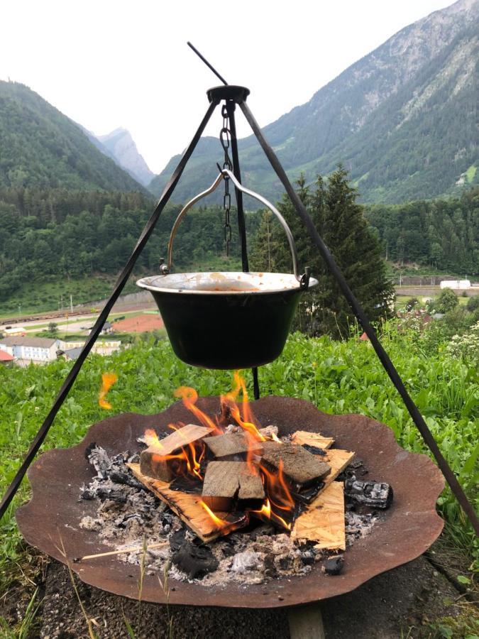
M 116 275 L 153 207 L 153 201 L 138 192 L 0 189 L 0 304 L 5 309 L 9 297 L 26 283 Z M 479 265 L 478 207 L 478 190 L 472 190 L 461 199 L 365 207 L 365 216 L 381 240 L 385 257 L 474 275 Z M 179 211 L 180 206 L 171 204 L 161 215 L 138 261 L 138 275 L 158 271 Z M 234 210 L 231 216 L 234 220 Z M 250 251 L 261 218 L 260 212 L 246 216 Z M 239 268 L 237 226 L 232 223 L 228 260 L 223 225 L 224 211 L 219 206 L 189 212 L 175 240 L 175 268 Z M 297 231 L 299 246 L 309 241 L 299 236 L 301 224 Z

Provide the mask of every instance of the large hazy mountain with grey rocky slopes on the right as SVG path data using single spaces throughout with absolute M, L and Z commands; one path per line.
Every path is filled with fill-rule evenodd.
M 290 178 L 314 180 L 341 162 L 365 202 L 430 198 L 478 182 L 475 113 L 479 0 L 459 0 L 403 28 L 265 126 Z M 175 193 L 209 185 L 219 141 L 203 138 Z M 277 199 L 282 185 L 253 136 L 239 141 L 245 185 Z M 209 149 L 213 151 L 210 152 Z M 150 183 L 158 195 L 177 163 Z

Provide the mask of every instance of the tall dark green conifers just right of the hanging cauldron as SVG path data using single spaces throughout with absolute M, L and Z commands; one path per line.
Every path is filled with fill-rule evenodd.
M 370 320 L 376 321 L 387 315 L 393 288 L 385 275 L 378 239 L 365 220 L 363 207 L 356 202 L 356 190 L 348 184 L 347 175 L 340 165 L 329 177 L 327 185 L 318 176 L 314 192 L 310 192 L 304 178 L 300 178 L 297 193 L 348 285 Z M 319 285 L 304 295 L 294 328 L 313 336 L 330 334 L 335 338 L 346 337 L 354 321 L 348 302 L 286 195 L 278 208 L 296 242 L 299 269 L 304 271 L 304 267 L 309 266 L 313 277 L 319 280 Z M 264 253 L 264 247 L 262 250 Z M 255 259 L 260 257 L 258 242 L 253 253 Z M 276 224 L 272 231 L 272 263 L 278 271 L 291 271 L 284 232 Z M 265 268 L 264 261 L 262 268 Z

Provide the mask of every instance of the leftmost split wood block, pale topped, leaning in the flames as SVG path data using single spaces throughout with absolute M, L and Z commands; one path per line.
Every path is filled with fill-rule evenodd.
M 171 481 L 175 475 L 186 471 L 187 460 L 180 455 L 181 449 L 188 444 L 199 442 L 210 433 L 209 428 L 196 424 L 187 424 L 178 428 L 171 435 L 159 439 L 141 452 L 141 472 L 154 479 Z

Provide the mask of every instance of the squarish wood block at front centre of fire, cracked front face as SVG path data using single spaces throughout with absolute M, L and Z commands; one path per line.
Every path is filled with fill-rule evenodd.
M 261 508 L 265 498 L 258 470 L 246 461 L 210 461 L 203 482 L 203 501 L 212 510 Z

